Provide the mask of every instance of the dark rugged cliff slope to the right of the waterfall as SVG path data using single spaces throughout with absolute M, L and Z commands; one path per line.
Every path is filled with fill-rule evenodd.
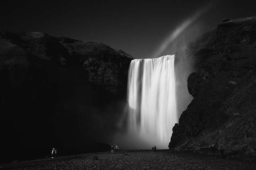
M 179 51 L 179 60 L 194 66 L 187 79 L 194 99 L 173 127 L 169 147 L 217 141 L 226 154 L 255 156 L 256 17 L 219 24 Z

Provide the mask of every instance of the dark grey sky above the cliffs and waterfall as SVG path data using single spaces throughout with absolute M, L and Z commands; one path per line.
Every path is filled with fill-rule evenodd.
M 208 8 L 169 43 L 172 54 L 224 17 L 256 16 L 255 0 L 8 0 L 1 2 L 0 30 L 40 31 L 122 49 L 152 58 L 176 28 Z M 213 3 L 212 3 L 213 2 Z

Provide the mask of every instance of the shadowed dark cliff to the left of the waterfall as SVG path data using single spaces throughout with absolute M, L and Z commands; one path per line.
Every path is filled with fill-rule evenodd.
M 126 101 L 131 56 L 102 43 L 0 33 L 1 153 L 79 153 L 108 142 Z M 3 161 L 3 160 L 2 160 Z

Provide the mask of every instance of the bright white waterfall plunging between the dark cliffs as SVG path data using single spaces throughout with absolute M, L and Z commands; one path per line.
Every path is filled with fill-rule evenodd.
M 174 58 L 133 59 L 128 74 L 129 132 L 159 149 L 168 148 L 178 122 Z

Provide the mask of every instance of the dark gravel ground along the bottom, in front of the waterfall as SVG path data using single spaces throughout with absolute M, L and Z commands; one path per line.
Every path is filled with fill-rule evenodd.
M 93 157 L 98 160 L 94 160 Z M 256 170 L 256 160 L 221 159 L 168 150 L 87 153 L 31 161 L 14 161 L 0 170 Z

